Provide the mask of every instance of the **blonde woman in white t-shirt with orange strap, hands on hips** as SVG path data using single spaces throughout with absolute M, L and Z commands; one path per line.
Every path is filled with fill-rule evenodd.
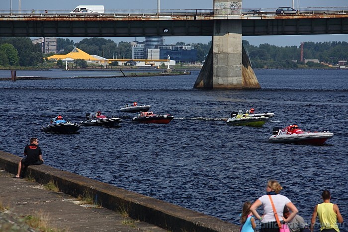
M 274 216 L 273 206 L 270 199 L 272 199 L 275 211 L 277 212 L 281 223 L 291 222 L 298 213 L 296 206 L 289 200 L 289 198 L 279 194 L 282 189 L 283 187 L 281 187 L 278 181 L 268 180 L 266 194 L 256 200 L 250 208 L 254 216 L 261 221 L 260 232 L 279 232 L 279 227 Z M 256 211 L 260 206 L 263 206 L 263 217 L 261 217 Z M 288 218 L 283 217 L 284 206 L 289 207 L 292 211 Z

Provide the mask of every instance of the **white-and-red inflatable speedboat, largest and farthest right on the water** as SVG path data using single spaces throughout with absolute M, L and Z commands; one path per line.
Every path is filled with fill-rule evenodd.
M 299 129 L 297 125 L 290 125 L 285 128 L 273 127 L 272 136 L 269 137 L 268 142 L 283 144 L 323 145 L 325 141 L 333 137 L 334 134 L 328 131 L 303 131 Z

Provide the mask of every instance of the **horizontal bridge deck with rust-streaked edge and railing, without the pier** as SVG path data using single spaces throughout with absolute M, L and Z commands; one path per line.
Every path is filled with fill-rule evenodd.
M 347 34 L 348 7 L 275 9 L 105 10 L 100 15 L 70 10 L 0 10 L 0 37 L 213 36 L 214 22 L 240 20 L 242 35 Z

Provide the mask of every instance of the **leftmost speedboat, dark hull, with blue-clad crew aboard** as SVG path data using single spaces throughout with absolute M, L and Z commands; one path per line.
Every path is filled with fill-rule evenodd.
M 81 126 L 77 123 L 66 121 L 60 115 L 51 119 L 50 124 L 41 127 L 40 131 L 52 134 L 75 134 L 80 130 Z

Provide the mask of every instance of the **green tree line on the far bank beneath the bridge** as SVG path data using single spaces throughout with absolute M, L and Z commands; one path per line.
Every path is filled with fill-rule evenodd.
M 197 62 L 202 62 L 211 47 L 212 41 L 207 44 L 185 44 L 177 42 L 177 45 L 191 45 L 197 50 Z M 303 58 L 318 59 L 320 62 L 337 64 L 340 60 L 348 60 L 348 42 L 304 42 Z M 300 61 L 301 46 L 278 47 L 269 44 L 251 45 L 243 40 L 243 46 L 251 60 L 253 68 L 268 69 L 296 69 L 296 68 L 320 68 L 327 67 L 322 64 Z M 131 59 L 132 48 L 130 42 L 115 43 L 111 39 L 92 37 L 74 43 L 73 40 L 57 38 L 57 50 L 60 54 L 71 52 L 74 47 L 80 48 L 91 55 L 98 55 L 107 59 Z M 42 67 L 48 60 L 44 57 L 53 54 L 43 54 L 41 45 L 34 45 L 30 38 L 0 38 L 0 66 L 1 67 Z

